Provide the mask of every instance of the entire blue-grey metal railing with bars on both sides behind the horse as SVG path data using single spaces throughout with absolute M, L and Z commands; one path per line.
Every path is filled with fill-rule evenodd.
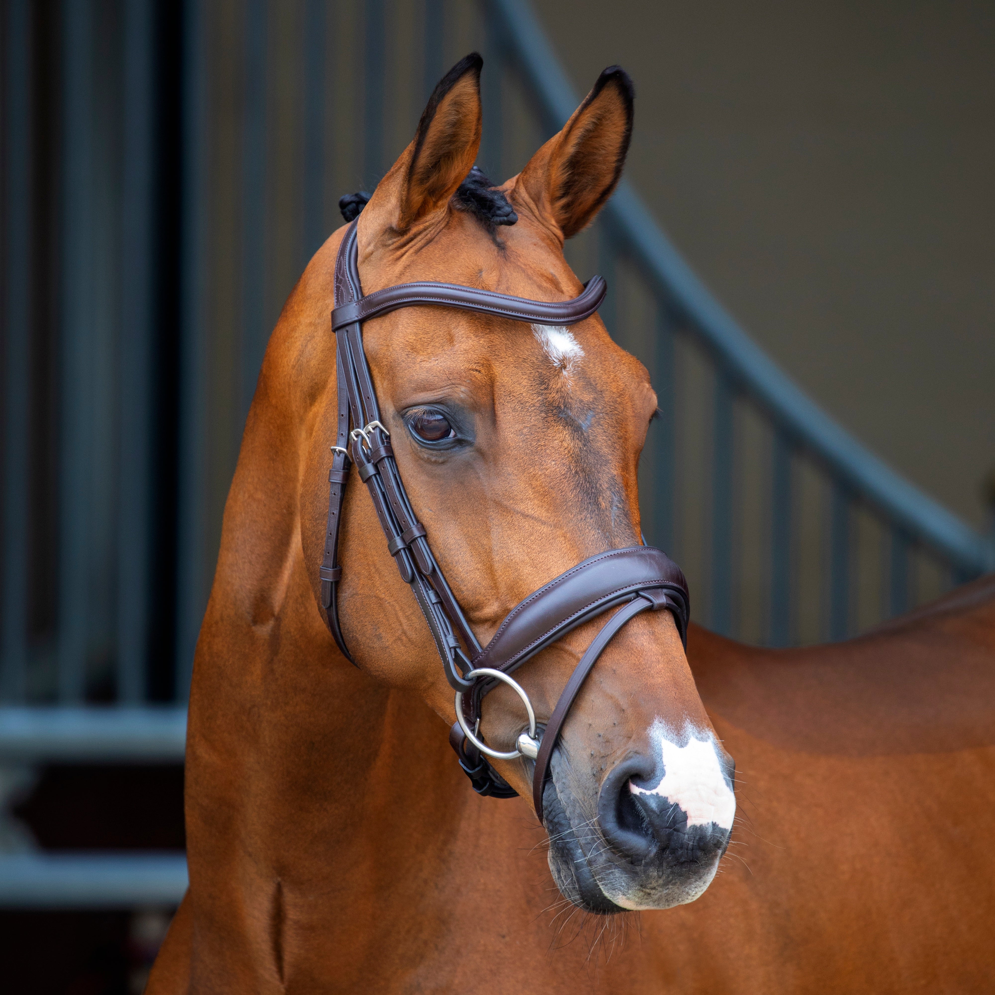
M 181 761 L 245 414 L 338 196 L 372 189 L 475 48 L 496 180 L 578 102 L 522 0 L 118 6 L 3 7 L 7 765 Z M 568 258 L 651 371 L 644 531 L 698 621 L 840 639 L 995 566 L 757 348 L 627 184 Z M 122 860 L 0 856 L 0 902 L 182 894 L 180 855 Z

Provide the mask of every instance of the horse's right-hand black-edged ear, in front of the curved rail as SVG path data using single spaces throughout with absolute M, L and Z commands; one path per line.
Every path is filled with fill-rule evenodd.
M 573 112 L 521 171 L 521 187 L 542 220 L 564 239 L 591 223 L 622 176 L 632 137 L 632 80 L 609 66 Z

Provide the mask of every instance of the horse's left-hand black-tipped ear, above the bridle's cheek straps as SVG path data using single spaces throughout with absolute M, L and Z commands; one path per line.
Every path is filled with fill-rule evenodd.
M 445 208 L 466 179 L 481 146 L 481 67 L 476 52 L 440 81 L 418 122 L 414 140 L 380 181 L 363 210 L 370 219 L 406 231 Z

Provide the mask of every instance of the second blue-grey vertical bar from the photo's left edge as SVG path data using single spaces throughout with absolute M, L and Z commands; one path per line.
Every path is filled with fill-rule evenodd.
M 86 692 L 94 349 L 93 10 L 63 4 L 63 280 L 59 480 L 59 697 Z

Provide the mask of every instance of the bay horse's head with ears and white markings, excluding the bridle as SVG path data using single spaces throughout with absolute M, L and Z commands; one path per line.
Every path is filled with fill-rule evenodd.
M 632 131 L 629 78 L 606 70 L 521 172 L 491 187 L 474 170 L 481 65 L 470 56 L 440 83 L 414 140 L 359 215 L 365 294 L 432 281 L 533 300 L 580 295 L 563 244 L 618 183 Z M 640 544 L 637 466 L 657 397 L 645 367 L 597 315 L 567 328 L 409 306 L 367 320 L 363 344 L 400 476 L 482 645 L 551 578 Z M 304 474 L 323 485 L 335 409 L 312 410 Z M 303 488 L 310 563 L 321 561 L 325 501 L 317 486 Z M 358 484 L 339 542 L 338 615 L 356 666 L 452 723 L 436 646 Z M 316 571 L 312 587 L 320 610 Z M 584 623 L 515 675 L 540 724 L 603 623 Z M 480 734 L 510 751 L 524 728 L 519 697 L 498 686 Z M 530 796 L 530 759 L 495 766 Z M 550 770 L 537 815 L 564 896 L 613 912 L 669 907 L 708 886 L 732 826 L 732 760 L 697 695 L 671 612 L 641 614 L 612 639 L 562 727 Z

